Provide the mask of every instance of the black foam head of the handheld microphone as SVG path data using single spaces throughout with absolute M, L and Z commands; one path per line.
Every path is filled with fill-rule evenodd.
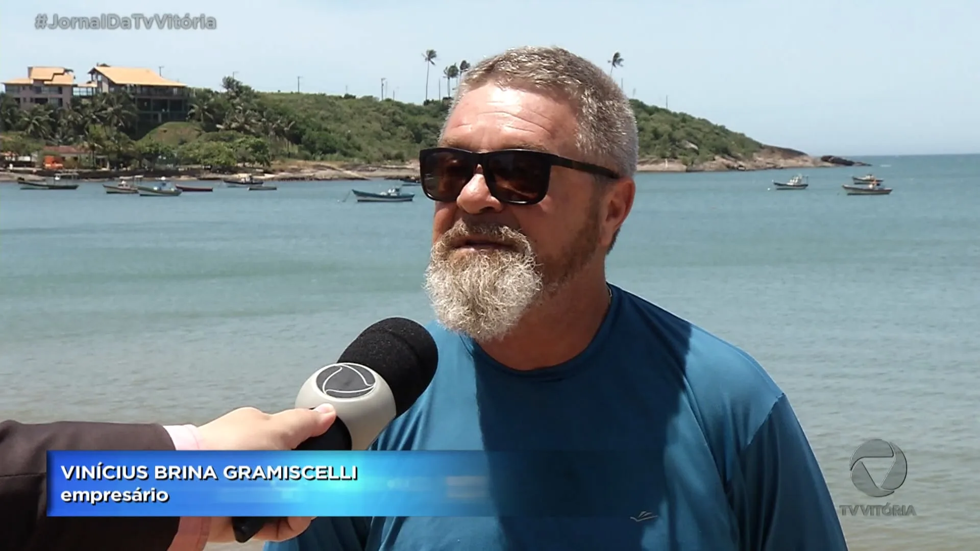
M 338 364 L 360 364 L 388 383 L 402 415 L 428 388 L 439 365 L 439 349 L 425 327 L 405 318 L 369 326 L 344 350 Z

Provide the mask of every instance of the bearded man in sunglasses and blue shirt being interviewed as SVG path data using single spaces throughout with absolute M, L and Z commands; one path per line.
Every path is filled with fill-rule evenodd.
M 806 435 L 755 360 L 606 281 L 637 166 L 608 75 L 559 48 L 487 59 L 419 163 L 439 367 L 372 449 L 642 457 L 604 484 L 573 473 L 581 486 L 548 490 L 635 513 L 321 518 L 268 550 L 847 549 Z

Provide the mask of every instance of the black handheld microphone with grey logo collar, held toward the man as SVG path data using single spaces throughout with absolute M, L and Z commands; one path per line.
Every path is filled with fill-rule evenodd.
M 439 364 L 435 340 L 423 326 L 389 318 L 365 329 L 336 364 L 320 368 L 296 396 L 297 408 L 331 404 L 337 419 L 297 450 L 366 450 L 432 382 Z M 235 540 L 245 543 L 272 519 L 235 517 Z

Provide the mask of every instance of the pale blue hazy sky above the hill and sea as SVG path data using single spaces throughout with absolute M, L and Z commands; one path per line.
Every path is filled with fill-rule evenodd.
M 100 14 L 215 29 L 36 29 Z M 46 0 L 5 2 L 0 79 L 29 66 L 145 67 L 219 88 L 425 96 L 452 63 L 557 45 L 630 97 L 811 155 L 980 153 L 980 0 Z M 160 69 L 162 67 L 162 69 Z M 443 81 L 444 82 L 444 81 Z

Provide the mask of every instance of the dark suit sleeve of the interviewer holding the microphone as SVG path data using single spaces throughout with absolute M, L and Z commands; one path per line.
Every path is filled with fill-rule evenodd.
M 0 519 L 3 549 L 166 551 L 178 518 L 48 518 L 48 450 L 172 450 L 159 425 L 0 423 Z

